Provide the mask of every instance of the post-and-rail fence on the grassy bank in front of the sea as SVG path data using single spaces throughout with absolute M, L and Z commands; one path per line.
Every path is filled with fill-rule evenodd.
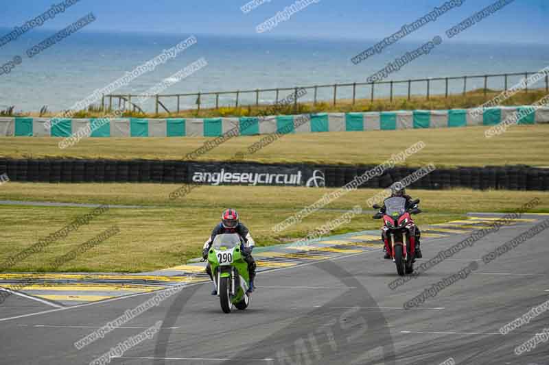
M 218 110 L 220 108 L 220 95 L 234 95 L 234 98 L 232 99 L 233 102 L 231 102 L 231 106 L 234 105 L 236 108 L 240 105 L 240 102 L 242 101 L 242 95 L 246 94 L 253 94 L 255 95 L 255 103 L 253 104 L 247 104 L 247 105 L 270 105 L 270 104 L 260 104 L 260 95 L 261 93 L 265 92 L 275 92 L 276 96 L 274 97 L 273 103 L 278 103 L 280 98 L 281 92 L 290 91 L 294 93 L 294 110 L 297 108 L 297 102 L 298 102 L 298 90 L 305 89 L 307 90 L 307 94 L 309 94 L 309 90 L 313 91 L 313 104 L 316 105 L 318 103 L 318 90 L 319 89 L 333 89 L 333 95 L 331 98 L 331 102 L 333 105 L 337 105 L 338 102 L 338 90 L 341 90 L 342 88 L 351 88 L 351 99 L 352 104 L 355 105 L 355 102 L 357 100 L 357 87 L 358 86 L 369 86 L 369 99 L 371 102 L 375 99 L 375 90 L 376 86 L 389 86 L 389 92 L 388 97 L 390 101 L 393 101 L 393 98 L 395 97 L 395 87 L 399 86 L 401 84 L 404 84 L 407 86 L 407 92 L 406 96 L 407 99 L 410 100 L 412 97 L 412 84 L 424 84 L 426 87 L 425 89 L 425 97 L 429 100 L 431 97 L 431 88 L 432 83 L 436 81 L 443 81 L 444 86 L 444 95 L 447 98 L 449 95 L 451 95 L 449 90 L 449 84 L 451 81 L 460 80 L 460 85 L 463 84 L 463 89 L 460 88 L 465 95 L 467 92 L 467 81 L 471 81 L 474 79 L 483 79 L 484 80 L 484 95 L 487 94 L 489 88 L 489 81 L 493 78 L 500 79 L 500 83 L 502 82 L 503 90 L 509 89 L 509 77 L 516 77 L 516 76 L 524 76 L 525 79 L 528 79 L 528 75 L 533 75 L 535 72 L 524 72 L 524 73 L 500 73 L 500 74 L 487 74 L 487 75 L 465 75 L 465 76 L 454 76 L 454 77 L 432 77 L 428 79 L 406 79 L 406 80 L 388 80 L 388 81 L 379 81 L 379 82 L 353 82 L 353 83 L 347 83 L 347 84 L 324 84 L 324 85 L 313 85 L 313 86 L 295 86 L 293 88 L 267 88 L 267 89 L 255 89 L 255 90 L 232 90 L 232 91 L 211 91 L 211 92 L 190 92 L 190 93 L 183 93 L 183 94 L 165 94 L 165 95 L 154 95 L 154 110 L 156 114 L 159 113 L 159 108 L 163 108 L 165 112 L 171 113 L 171 111 L 166 107 L 165 99 L 176 99 L 176 112 L 180 112 L 180 101 L 183 97 L 196 97 L 196 102 L 194 103 L 196 105 L 196 110 L 200 112 L 200 108 L 203 108 L 203 105 L 205 103 L 202 102 L 203 97 L 207 96 L 215 96 L 215 109 Z M 546 75 L 545 77 L 545 89 L 546 92 L 549 92 L 549 77 Z M 528 85 L 526 85 L 525 91 L 528 92 Z M 385 94 L 386 95 L 386 94 Z M 116 103 L 118 103 L 117 108 L 121 108 L 124 110 L 139 110 L 140 112 L 143 112 L 143 108 L 141 108 L 140 105 L 137 105 L 135 103 L 132 103 L 132 98 L 135 97 L 144 97 L 144 95 L 132 95 L 132 94 L 126 94 L 126 95 L 119 95 L 119 94 L 110 94 L 110 95 L 104 95 L 102 97 L 101 101 L 101 108 L 102 110 L 113 110 L 113 106 L 115 106 Z M 163 99 L 161 101 L 161 99 Z M 362 99 L 368 99 L 368 98 L 362 98 Z M 213 105 L 212 105 L 213 107 Z

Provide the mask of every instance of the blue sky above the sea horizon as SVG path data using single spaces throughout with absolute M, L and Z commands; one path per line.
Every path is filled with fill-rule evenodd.
M 0 27 L 12 28 L 38 16 L 62 0 L 18 0 L 4 4 Z M 436 22 L 408 36 L 409 40 L 431 39 L 463 21 L 495 0 L 465 0 Z M 255 27 L 292 0 L 269 0 L 248 14 L 240 7 L 246 0 L 80 0 L 64 14 L 40 29 L 58 30 L 84 16 L 97 21 L 86 31 L 163 32 L 174 34 L 222 34 L 266 36 Z M 268 36 L 299 38 L 384 38 L 430 12 L 445 0 L 320 0 L 280 23 Z M 5 1 L 8 3 L 8 1 Z M 549 43 L 549 0 L 515 0 L 458 37 L 460 41 Z

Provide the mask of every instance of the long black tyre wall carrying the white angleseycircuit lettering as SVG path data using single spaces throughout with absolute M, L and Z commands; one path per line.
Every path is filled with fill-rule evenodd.
M 254 164 L 156 160 L 0 159 L 0 175 L 11 181 L 82 183 L 156 183 L 340 187 L 374 166 Z M 395 167 L 361 188 L 387 188 L 416 168 Z M 549 190 L 549 169 L 530 166 L 437 168 L 410 188 L 441 190 Z

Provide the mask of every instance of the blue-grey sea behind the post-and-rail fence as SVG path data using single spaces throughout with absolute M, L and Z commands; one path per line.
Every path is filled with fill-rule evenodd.
M 7 34 L 9 29 L 0 29 Z M 42 29 L 21 36 L 0 47 L 0 66 L 21 56 L 21 64 L 10 73 L 0 75 L 0 110 L 13 105 L 18 112 L 67 110 L 74 103 L 93 94 L 94 90 L 122 77 L 126 72 L 151 60 L 164 49 L 174 47 L 192 34 L 139 34 L 86 32 L 82 30 L 28 58 L 26 50 L 51 36 Z M 384 68 L 388 62 L 417 49 L 421 42 L 406 39 L 384 49 L 360 64 L 351 58 L 371 47 L 377 40 L 334 40 L 305 38 L 275 38 L 257 35 L 253 38 L 212 34 L 194 34 L 197 42 L 189 49 L 121 86 L 116 93 L 139 94 L 188 64 L 204 58 L 207 66 L 165 90 L 165 94 L 192 92 L 223 92 L 261 88 L 294 88 L 365 82 L 366 78 Z M 533 73 L 549 66 L 549 47 L 533 44 L 443 42 L 427 55 L 405 64 L 386 80 L 424 79 L 499 73 Z M 509 77 L 509 86 L 522 77 Z M 502 88 L 502 77 L 491 77 L 489 88 Z M 482 88 L 484 79 L 468 79 L 467 90 Z M 542 87 L 540 83 L 535 87 Z M 413 82 L 412 95 L 425 95 L 426 82 Z M 406 95 L 407 84 L 395 84 L 394 95 Z M 317 89 L 317 99 L 331 102 L 334 87 Z M 463 91 L 463 80 L 449 81 L 449 92 Z M 351 87 L 336 90 L 338 99 L 351 98 Z M 370 86 L 357 86 L 358 99 L 371 97 Z M 444 81 L 432 81 L 430 93 L 445 92 Z M 279 99 L 290 94 L 281 91 Z M 388 85 L 375 86 L 375 97 L 389 95 Z M 301 97 L 311 101 L 312 89 Z M 255 92 L 240 93 L 239 103 L 255 103 Z M 260 103 L 274 103 L 275 92 L 261 92 Z M 176 98 L 161 99 L 170 110 L 176 109 Z M 202 108 L 215 105 L 215 96 L 203 96 Z M 100 103 L 100 101 L 97 101 Z M 235 94 L 220 95 L 220 106 L 235 105 Z M 115 103 L 115 106 L 117 104 Z M 154 110 L 152 100 L 141 105 Z M 180 108 L 196 108 L 196 97 L 181 97 Z

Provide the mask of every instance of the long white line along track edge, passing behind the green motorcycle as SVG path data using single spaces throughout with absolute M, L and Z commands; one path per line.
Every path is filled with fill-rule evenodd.
M 288 267 L 283 267 L 283 268 L 273 268 L 272 270 L 265 270 L 263 273 L 275 273 L 275 272 L 280 271 L 280 270 L 288 270 L 288 269 L 299 268 L 299 267 L 303 267 L 303 266 L 311 266 L 311 265 L 314 265 L 314 264 L 318 264 L 319 262 L 336 261 L 336 260 L 341 260 L 341 259 L 345 259 L 345 258 L 348 258 L 348 257 L 353 257 L 353 256 L 357 256 L 357 255 L 364 255 L 365 253 L 373 253 L 373 252 L 377 252 L 377 251 L 381 251 L 381 250 L 382 249 L 373 249 L 373 250 L 363 251 L 363 252 L 359 252 L 359 253 L 351 253 L 350 255 L 341 255 L 341 256 L 336 256 L 336 257 L 328 257 L 325 260 L 316 260 L 314 262 L 307 262 L 305 264 L 298 264 L 298 265 L 288 266 Z M 190 288 L 191 286 L 196 286 L 196 285 L 203 285 L 203 284 L 206 284 L 207 282 L 208 281 L 200 281 L 198 283 L 187 284 L 187 285 L 185 285 L 185 288 Z M 154 292 L 142 292 L 142 293 L 122 295 L 121 297 L 105 299 L 103 301 L 94 301 L 94 302 L 91 302 L 91 303 L 72 305 L 71 307 L 59 307 L 59 308 L 56 308 L 54 310 L 43 310 L 41 312 L 20 314 L 19 316 L 0 318 L 0 322 L 3 322 L 5 320 L 12 320 L 12 319 L 18 319 L 18 318 L 27 318 L 27 317 L 31 317 L 31 316 L 38 316 L 40 314 L 60 312 L 60 311 L 63 311 L 63 310 L 72 310 L 74 308 L 88 307 L 88 306 L 91 306 L 91 305 L 110 303 L 110 302 L 113 302 L 113 301 L 119 301 L 121 299 L 141 297 L 143 295 L 157 294 L 157 293 L 159 293 L 163 290 L 170 290 L 170 289 L 173 289 L 173 287 L 172 288 L 165 288 L 165 289 L 161 289 L 161 290 L 156 290 Z M 52 304 L 52 303 L 50 303 L 50 304 Z

